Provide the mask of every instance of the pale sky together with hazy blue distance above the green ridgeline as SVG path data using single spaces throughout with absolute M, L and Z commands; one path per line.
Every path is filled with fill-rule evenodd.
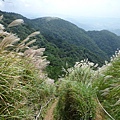
M 85 30 L 120 29 L 120 0 L 0 0 L 0 10 L 29 19 L 58 17 Z

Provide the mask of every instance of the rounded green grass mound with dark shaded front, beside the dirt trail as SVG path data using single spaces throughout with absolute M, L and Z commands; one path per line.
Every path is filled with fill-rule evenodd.
M 64 81 L 59 92 L 55 120 L 95 119 L 95 92 L 91 87 L 77 81 Z

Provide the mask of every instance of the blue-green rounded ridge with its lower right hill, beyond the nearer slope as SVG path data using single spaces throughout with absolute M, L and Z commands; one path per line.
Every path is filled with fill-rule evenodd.
M 68 21 L 52 17 L 34 19 L 33 22 L 33 26 L 39 29 L 48 41 L 57 44 L 57 39 L 64 40 L 88 49 L 102 60 L 109 58 L 120 48 L 120 37 L 107 30 L 87 32 Z

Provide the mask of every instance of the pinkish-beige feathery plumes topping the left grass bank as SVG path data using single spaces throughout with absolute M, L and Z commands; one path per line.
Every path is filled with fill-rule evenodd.
M 1 18 L 2 19 L 2 18 Z M 16 26 L 22 24 L 24 21 L 22 19 L 17 19 L 11 22 L 8 27 Z M 14 43 L 18 42 L 20 38 L 18 38 L 15 34 L 9 33 L 4 30 L 4 26 L 0 24 L 0 36 L 3 36 L 3 39 L 0 40 L 0 53 L 7 52 L 5 48 L 9 46 L 14 46 Z M 26 57 L 27 62 L 31 62 L 38 70 L 40 77 L 45 77 L 46 75 L 43 73 L 43 69 L 49 64 L 49 61 L 46 60 L 46 56 L 43 56 L 43 52 L 45 51 L 45 48 L 30 48 L 29 45 L 33 44 L 36 39 L 33 39 L 31 41 L 30 38 L 34 37 L 36 35 L 40 34 L 39 31 L 33 32 L 30 35 L 27 36 L 26 39 L 21 41 L 18 45 L 14 46 L 19 56 Z M 27 48 L 27 49 L 26 49 Z M 20 52 L 20 50 L 25 50 L 24 53 Z M 14 53 L 13 51 L 13 53 Z M 12 53 L 12 51 L 10 52 Z

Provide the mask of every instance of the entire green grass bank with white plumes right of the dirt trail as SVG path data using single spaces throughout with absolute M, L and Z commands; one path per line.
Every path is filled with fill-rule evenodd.
M 55 120 L 120 119 L 120 50 L 101 68 L 82 60 L 58 81 Z

